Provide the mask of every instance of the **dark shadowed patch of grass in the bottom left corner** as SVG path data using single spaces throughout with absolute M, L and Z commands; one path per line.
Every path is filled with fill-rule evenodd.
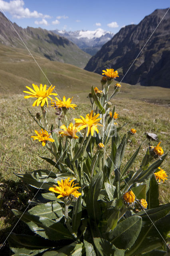
M 12 209 L 24 211 L 28 207 L 28 200 L 35 194 L 34 188 L 28 186 L 21 180 L 5 180 L 0 175 L 0 255 L 10 256 L 14 253 L 9 248 L 6 233 L 34 234 L 24 222 L 19 221 L 12 213 Z M 30 207 L 30 206 L 29 206 Z M 16 227 L 15 227 L 16 225 Z M 15 227 L 15 228 L 14 228 Z M 12 230 L 14 228 L 14 230 Z M 5 242 L 5 243 L 4 243 Z

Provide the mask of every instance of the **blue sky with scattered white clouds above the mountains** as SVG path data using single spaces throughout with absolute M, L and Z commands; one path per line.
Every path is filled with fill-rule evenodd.
M 123 26 L 138 24 L 155 9 L 169 5 L 169 0 L 0 0 L 0 11 L 4 10 L 22 28 L 67 31 L 102 28 L 115 34 Z

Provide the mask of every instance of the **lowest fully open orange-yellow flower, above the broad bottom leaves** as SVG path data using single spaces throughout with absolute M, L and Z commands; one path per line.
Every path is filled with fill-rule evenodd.
M 49 191 L 54 192 L 59 194 L 59 196 L 57 196 L 57 198 L 61 198 L 61 197 L 65 197 L 65 196 L 69 196 L 69 195 L 73 195 L 74 197 L 79 197 L 81 196 L 81 193 L 77 191 L 77 189 L 81 188 L 81 187 L 76 187 L 73 181 L 74 180 L 70 180 L 70 178 L 67 178 L 65 180 L 61 180 L 61 182 L 58 180 L 58 186 L 53 185 L 54 187 L 50 187 Z

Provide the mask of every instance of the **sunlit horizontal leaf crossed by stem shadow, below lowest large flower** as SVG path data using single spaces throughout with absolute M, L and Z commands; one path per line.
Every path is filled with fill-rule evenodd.
M 48 202 L 46 204 L 38 204 L 28 210 L 34 216 L 41 216 L 49 219 L 57 219 L 63 216 L 63 208 L 58 202 Z

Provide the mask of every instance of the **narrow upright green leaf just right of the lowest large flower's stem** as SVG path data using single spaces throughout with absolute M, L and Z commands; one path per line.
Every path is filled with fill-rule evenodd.
M 81 222 L 81 196 L 74 203 L 73 214 L 72 214 L 72 228 L 73 232 L 77 232 L 80 222 Z

